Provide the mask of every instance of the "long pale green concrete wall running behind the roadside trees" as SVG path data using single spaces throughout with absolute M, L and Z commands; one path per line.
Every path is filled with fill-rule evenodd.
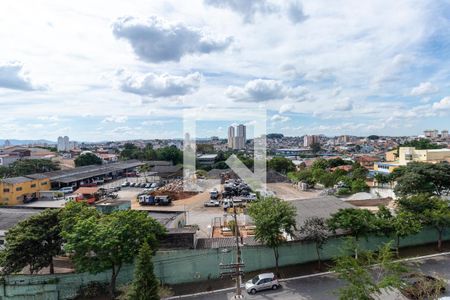
M 425 229 L 421 233 L 401 241 L 402 246 L 413 246 L 435 242 L 437 234 L 434 230 Z M 450 240 L 450 233 L 445 235 Z M 367 249 L 376 249 L 388 241 L 384 237 L 362 239 L 361 245 Z M 343 238 L 330 239 L 323 247 L 322 258 L 331 259 L 339 254 Z M 235 251 L 225 252 L 223 249 L 205 250 L 173 250 L 159 251 L 154 257 L 155 274 L 166 284 L 185 282 L 201 282 L 219 277 L 219 264 L 234 262 Z M 273 268 L 275 261 L 272 249 L 243 247 L 245 271 Z M 314 244 L 290 243 L 280 248 L 280 265 L 292 265 L 316 260 Z M 108 282 L 110 272 L 99 274 L 59 274 L 59 275 L 11 275 L 0 281 L 0 300 L 53 300 L 72 299 L 80 286 L 91 281 Z M 118 278 L 118 284 L 130 282 L 133 278 L 133 266 L 125 266 Z

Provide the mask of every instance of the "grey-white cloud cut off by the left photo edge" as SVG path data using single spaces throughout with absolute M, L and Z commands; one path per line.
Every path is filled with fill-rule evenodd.
M 23 64 L 18 61 L 0 63 L 0 88 L 33 91 L 42 90 L 43 86 L 32 83 Z

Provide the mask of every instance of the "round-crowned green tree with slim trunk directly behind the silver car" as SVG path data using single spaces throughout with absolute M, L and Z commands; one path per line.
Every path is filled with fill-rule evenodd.
M 267 197 L 252 203 L 248 214 L 256 225 L 256 240 L 272 248 L 276 273 L 279 275 L 278 247 L 286 241 L 283 234 L 294 236 L 295 208 L 279 198 Z

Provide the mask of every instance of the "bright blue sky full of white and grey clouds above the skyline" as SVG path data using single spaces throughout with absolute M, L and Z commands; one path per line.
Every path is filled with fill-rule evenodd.
M 0 139 L 450 127 L 448 0 L 2 0 L 0 45 Z

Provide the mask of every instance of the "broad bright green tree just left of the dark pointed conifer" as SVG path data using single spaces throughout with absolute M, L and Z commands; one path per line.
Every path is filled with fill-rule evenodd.
M 67 241 L 64 248 L 78 271 L 95 274 L 111 270 L 111 298 L 122 266 L 133 262 L 144 242 L 155 250 L 164 234 L 162 225 L 136 210 L 77 218 L 72 230 L 63 231 Z

